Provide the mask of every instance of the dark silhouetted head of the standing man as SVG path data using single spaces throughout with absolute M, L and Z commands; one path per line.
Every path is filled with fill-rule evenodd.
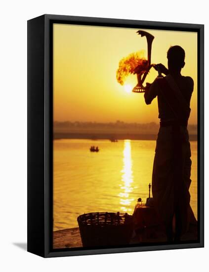
M 180 72 L 184 67 L 185 51 L 179 45 L 171 46 L 167 51 L 167 66 L 172 72 Z

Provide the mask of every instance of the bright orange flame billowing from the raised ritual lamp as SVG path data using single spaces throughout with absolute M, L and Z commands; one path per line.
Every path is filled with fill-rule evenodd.
M 124 85 L 125 79 L 129 74 L 135 74 L 136 72 L 144 73 L 146 68 L 147 61 L 144 58 L 144 50 L 133 52 L 120 60 L 116 74 L 117 81 Z

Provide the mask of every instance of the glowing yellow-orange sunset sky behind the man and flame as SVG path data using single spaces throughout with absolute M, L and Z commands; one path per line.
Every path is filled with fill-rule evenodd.
M 128 93 L 116 80 L 119 61 L 129 53 L 145 50 L 139 29 L 54 24 L 54 120 L 148 123 L 158 122 L 157 99 L 146 105 L 143 94 Z M 145 30 L 155 36 L 152 63 L 167 66 L 167 49 L 185 49 L 182 75 L 194 80 L 190 124 L 197 123 L 197 33 Z M 145 82 L 152 83 L 151 70 Z M 136 76 L 126 84 L 136 84 Z

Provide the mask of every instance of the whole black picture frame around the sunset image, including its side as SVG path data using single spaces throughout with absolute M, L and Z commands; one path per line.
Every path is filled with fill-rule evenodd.
M 53 23 L 198 33 L 198 229 L 195 243 L 52 248 Z M 204 247 L 204 25 L 45 14 L 28 21 L 28 251 L 42 257 Z

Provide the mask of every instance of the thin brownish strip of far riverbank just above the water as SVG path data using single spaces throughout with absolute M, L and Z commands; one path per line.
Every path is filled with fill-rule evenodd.
M 117 140 L 156 140 L 157 134 L 92 134 L 92 133 L 55 133 L 54 140 L 57 139 L 117 139 Z M 190 141 L 197 141 L 197 135 L 191 134 L 189 136 Z

